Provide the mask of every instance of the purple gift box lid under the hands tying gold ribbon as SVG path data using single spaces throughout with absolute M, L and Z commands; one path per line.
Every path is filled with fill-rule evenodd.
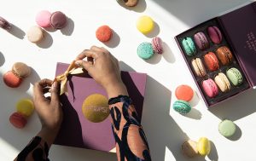
M 57 63 L 56 76 L 65 72 L 68 66 Z M 138 118 L 141 119 L 147 74 L 121 72 L 121 77 L 135 105 Z M 55 144 L 115 152 L 110 116 L 101 123 L 92 123 L 84 118 L 82 112 L 83 101 L 88 95 L 97 93 L 107 96 L 106 91 L 85 72 L 69 77 L 67 88 L 68 95 L 61 95 L 64 119 Z

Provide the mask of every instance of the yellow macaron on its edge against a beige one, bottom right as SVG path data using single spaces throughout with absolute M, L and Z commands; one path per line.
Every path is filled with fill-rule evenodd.
M 202 156 L 206 156 L 211 152 L 211 142 L 206 137 L 201 137 L 197 141 L 197 150 Z

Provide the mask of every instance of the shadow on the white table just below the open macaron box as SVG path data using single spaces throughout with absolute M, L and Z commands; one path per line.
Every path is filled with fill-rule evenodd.
M 248 89 L 246 92 L 236 95 L 230 100 L 224 101 L 217 106 L 212 106 L 208 110 L 221 120 L 226 118 L 236 121 L 256 112 L 255 98 L 256 90 Z

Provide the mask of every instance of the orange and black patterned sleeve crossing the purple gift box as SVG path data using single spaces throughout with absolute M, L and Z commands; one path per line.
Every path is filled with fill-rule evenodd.
M 131 98 L 119 95 L 108 101 L 119 161 L 151 161 L 148 142 Z

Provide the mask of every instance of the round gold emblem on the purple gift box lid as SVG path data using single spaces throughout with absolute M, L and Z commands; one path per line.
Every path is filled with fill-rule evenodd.
M 109 115 L 107 97 L 100 94 L 89 95 L 83 102 L 82 112 L 84 118 L 92 123 L 104 121 Z

